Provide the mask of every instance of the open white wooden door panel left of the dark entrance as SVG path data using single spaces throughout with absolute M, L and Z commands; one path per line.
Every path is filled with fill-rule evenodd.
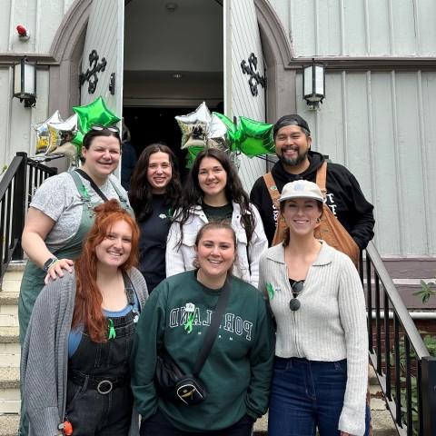
M 88 82 L 81 89 L 81 105 L 90 104 L 102 96 L 104 103 L 121 118 L 123 111 L 123 40 L 124 0 L 93 0 L 82 59 L 82 72 L 89 67 L 92 50 L 99 55 L 98 62 L 106 59 L 104 72 L 97 73 L 98 83 L 94 94 L 88 93 Z M 111 74 L 115 73 L 115 94 L 109 91 Z

